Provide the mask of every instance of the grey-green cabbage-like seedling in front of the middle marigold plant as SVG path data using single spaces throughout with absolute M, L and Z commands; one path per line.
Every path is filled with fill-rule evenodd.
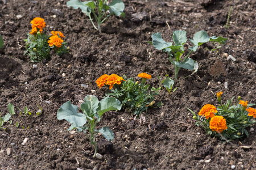
M 119 111 L 121 108 L 121 102 L 113 97 L 106 97 L 98 101 L 96 96 L 88 95 L 85 97 L 84 103 L 81 104 L 80 109 L 82 113 L 77 113 L 78 107 L 71 104 L 71 101 L 68 101 L 59 108 L 57 119 L 67 120 L 71 124 L 68 130 L 77 129 L 77 132 L 84 131 L 94 147 L 93 157 L 95 158 L 97 154 L 96 135 L 101 133 L 107 140 L 112 141 L 114 139 L 114 133 L 109 127 L 105 126 L 96 130 L 97 122 L 101 121 L 101 116 L 105 112 Z

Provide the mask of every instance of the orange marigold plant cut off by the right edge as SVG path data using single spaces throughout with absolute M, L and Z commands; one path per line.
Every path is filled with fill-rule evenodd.
M 221 95 L 222 92 L 217 93 L 217 100 L 220 103 L 217 109 L 213 105 L 207 104 L 203 106 L 198 115 L 189 109 L 193 113 L 196 125 L 202 126 L 207 134 L 216 135 L 221 139 L 225 138 L 225 140 L 249 137 L 247 128 L 250 128 L 256 122 L 254 120 L 256 110 L 249 107 L 254 104 L 248 104 L 248 101 L 240 100 L 240 96 L 234 103 L 232 102 L 233 97 L 227 100 L 226 104 L 222 104 Z M 246 109 L 247 107 L 249 108 Z

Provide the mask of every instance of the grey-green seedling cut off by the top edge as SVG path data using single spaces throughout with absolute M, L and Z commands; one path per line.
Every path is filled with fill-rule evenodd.
M 85 13 L 92 22 L 93 27 L 101 32 L 101 23 L 103 23 L 110 15 L 115 14 L 115 16 L 123 16 L 125 18 L 125 4 L 120 0 L 112 0 L 109 4 L 106 0 L 96 0 L 96 1 L 85 1 L 81 2 L 80 0 L 71 0 L 67 2 L 68 7 L 73 7 L 74 9 L 81 8 L 82 12 Z M 96 12 L 97 7 L 97 12 Z M 109 11 L 109 12 L 108 12 Z M 93 20 L 90 14 L 93 14 L 96 25 L 93 23 Z M 108 14 L 109 13 L 109 14 Z

